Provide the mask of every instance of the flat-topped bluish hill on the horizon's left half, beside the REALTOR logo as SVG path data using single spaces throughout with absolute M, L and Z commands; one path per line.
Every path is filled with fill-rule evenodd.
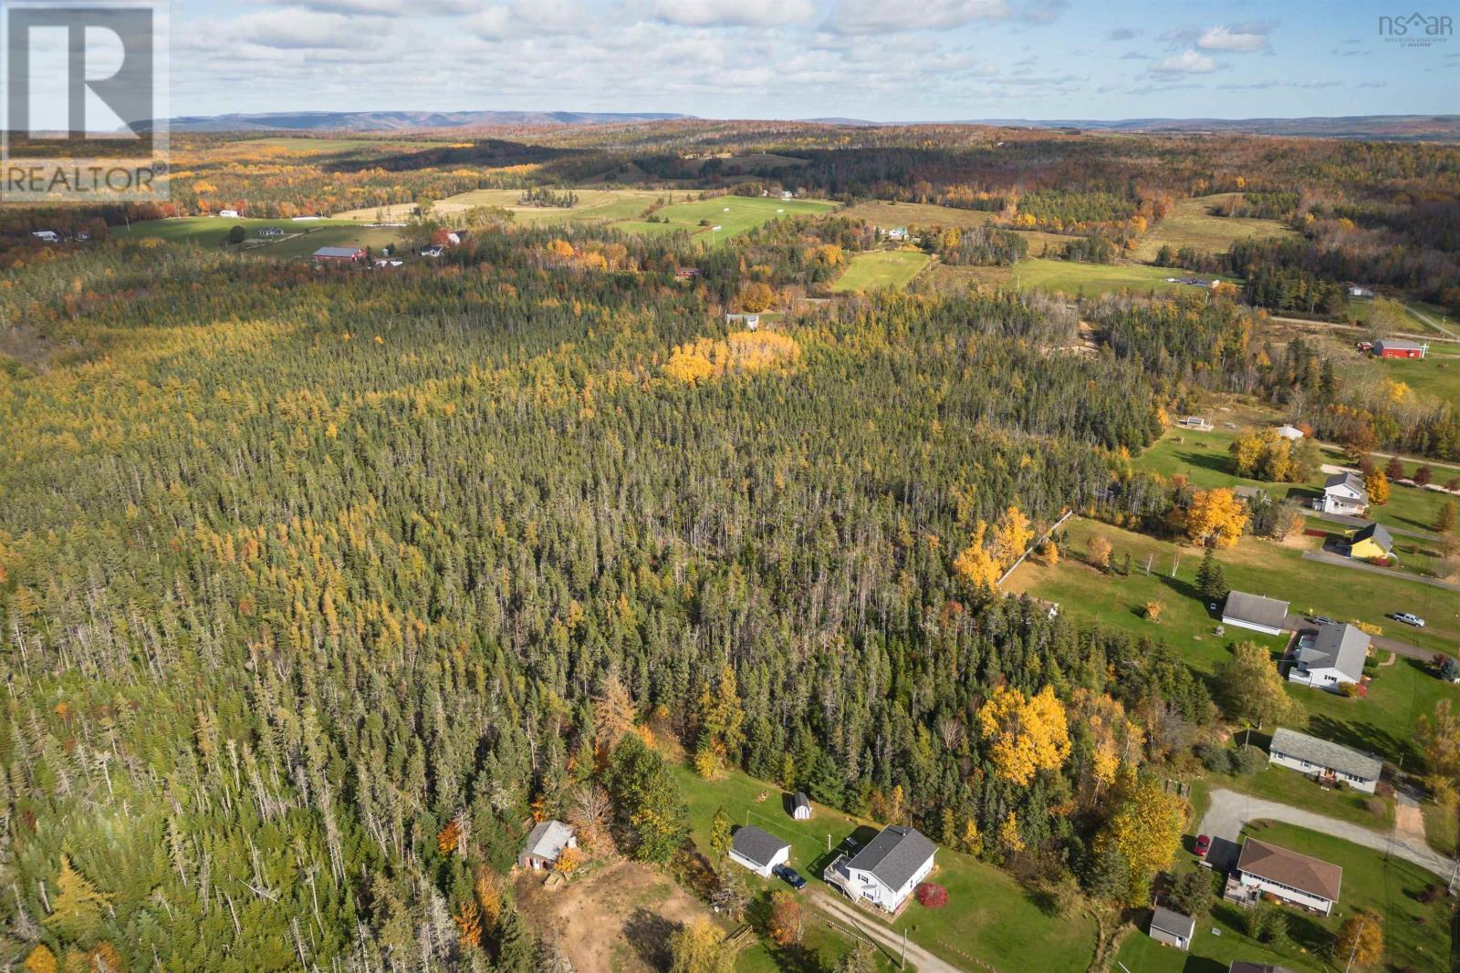
M 692 118 L 676 112 L 600 111 L 279 111 L 232 115 L 184 115 L 172 131 L 400 131 L 485 125 L 604 125 L 626 121 Z

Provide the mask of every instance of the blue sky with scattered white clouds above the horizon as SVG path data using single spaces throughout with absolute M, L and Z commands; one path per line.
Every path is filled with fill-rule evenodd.
M 1460 20 L 1454 0 L 1416 0 Z M 1460 36 L 1358 0 L 174 0 L 171 114 L 1460 114 Z M 1409 7 L 1405 7 L 1407 12 Z M 1413 29 L 1412 29 L 1413 34 Z

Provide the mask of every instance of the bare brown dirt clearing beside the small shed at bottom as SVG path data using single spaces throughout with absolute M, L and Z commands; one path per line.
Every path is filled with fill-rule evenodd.
M 669 937 L 710 910 L 675 881 L 638 862 L 615 862 L 564 887 L 543 888 L 521 872 L 517 903 L 552 932 L 577 973 L 651 973 L 669 969 Z

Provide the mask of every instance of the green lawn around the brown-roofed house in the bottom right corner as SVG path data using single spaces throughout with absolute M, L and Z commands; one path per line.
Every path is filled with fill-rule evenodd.
M 1348 957 L 1334 955 L 1333 941 L 1358 909 L 1372 909 L 1384 919 L 1384 961 L 1375 969 L 1450 969 L 1450 899 L 1441 894 L 1432 903 L 1421 902 L 1421 893 L 1440 883 L 1438 877 L 1399 858 L 1386 861 L 1383 852 L 1291 824 L 1254 821 L 1242 834 L 1342 868 L 1343 885 L 1333 915 L 1285 907 L 1292 944 L 1273 950 L 1242 934 L 1241 907 L 1218 902 L 1210 916 L 1197 919 L 1190 953 L 1161 945 L 1146 935 L 1142 920 L 1140 931 L 1129 935 L 1118 954 L 1130 973 L 1223 973 L 1232 960 L 1280 963 L 1305 973 L 1342 970 Z

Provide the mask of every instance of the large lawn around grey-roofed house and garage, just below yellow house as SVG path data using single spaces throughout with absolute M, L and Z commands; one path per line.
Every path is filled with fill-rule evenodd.
M 1101 573 L 1085 563 L 1086 544 L 1094 534 L 1111 543 L 1114 563 L 1123 565 L 1130 554 L 1129 576 Z M 1460 639 L 1460 598 L 1453 591 L 1304 560 L 1298 548 L 1253 537 L 1219 551 L 1218 560 L 1231 588 L 1289 601 L 1294 613 L 1371 621 L 1380 624 L 1386 635 L 1432 651 L 1454 652 Z M 1194 547 L 1072 519 L 1060 563 L 1048 567 L 1026 562 L 1004 584 L 1004 589 L 1058 602 L 1060 611 L 1077 624 L 1098 621 L 1136 636 L 1164 639 L 1216 694 L 1221 689 L 1216 672 L 1231 656 L 1234 643 L 1266 646 L 1273 652 L 1276 665 L 1286 637 L 1263 636 L 1234 626 L 1216 635 L 1219 613 L 1209 611 L 1196 592 L 1200 562 L 1202 554 Z M 1142 607 L 1149 601 L 1162 602 L 1159 621 L 1142 617 Z M 1396 610 L 1425 616 L 1429 627 L 1409 629 L 1384 617 Z M 1374 652 L 1375 662 L 1387 662 L 1388 656 L 1383 649 Z M 1412 744 L 1416 718 L 1432 713 L 1441 699 L 1460 705 L 1460 687 L 1441 683 L 1424 664 L 1407 658 L 1369 668 L 1368 672 L 1374 681 L 1367 699 L 1345 699 L 1288 684 L 1289 697 L 1302 708 L 1288 725 L 1388 760 L 1405 759 L 1412 766 L 1416 759 Z

